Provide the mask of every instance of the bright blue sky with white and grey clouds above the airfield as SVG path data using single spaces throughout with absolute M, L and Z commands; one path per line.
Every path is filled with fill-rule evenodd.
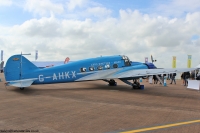
M 4 60 L 35 50 L 39 61 L 129 56 L 158 67 L 200 63 L 200 0 L 0 0 Z

